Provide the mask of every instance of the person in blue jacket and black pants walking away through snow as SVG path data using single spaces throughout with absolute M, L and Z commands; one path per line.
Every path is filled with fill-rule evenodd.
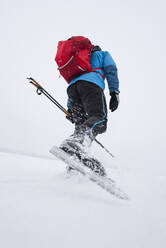
M 105 78 L 111 96 L 109 109 L 113 112 L 119 105 L 117 67 L 110 53 L 94 46 L 90 64 L 95 70 L 72 79 L 67 88 L 67 106 L 71 114 L 67 118 L 75 123 L 75 131 L 60 147 L 71 154 L 78 150 L 85 152 L 95 137 L 107 129 Z

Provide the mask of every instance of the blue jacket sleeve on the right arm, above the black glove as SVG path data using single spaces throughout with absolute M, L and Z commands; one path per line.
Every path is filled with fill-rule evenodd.
M 109 52 L 104 52 L 103 67 L 109 92 L 119 92 L 119 79 L 116 64 Z

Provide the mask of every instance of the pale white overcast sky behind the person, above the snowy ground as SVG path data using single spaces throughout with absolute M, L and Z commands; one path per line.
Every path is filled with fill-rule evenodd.
M 110 51 L 119 69 L 121 104 L 99 140 L 126 166 L 156 168 L 160 161 L 164 170 L 165 7 L 164 0 L 0 0 L 0 149 L 47 154 L 70 134 L 63 113 L 37 96 L 26 77 L 65 106 L 57 42 L 85 35 Z M 107 85 L 105 94 L 109 100 Z

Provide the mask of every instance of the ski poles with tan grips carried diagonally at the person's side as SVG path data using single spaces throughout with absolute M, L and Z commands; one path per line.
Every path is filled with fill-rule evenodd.
M 42 93 L 51 101 L 53 102 L 60 110 L 62 110 L 65 115 L 71 116 L 70 113 L 59 103 L 57 102 L 35 79 L 32 77 L 27 78 L 29 80 L 29 83 L 33 84 L 37 90 L 37 94 L 41 95 Z M 111 157 L 114 157 L 114 155 L 107 149 L 105 148 L 97 139 L 94 139 L 95 142 L 100 145 Z

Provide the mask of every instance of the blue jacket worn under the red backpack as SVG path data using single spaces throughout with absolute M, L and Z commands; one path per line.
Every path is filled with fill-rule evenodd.
M 108 83 L 109 92 L 112 93 L 113 91 L 119 91 L 119 79 L 117 75 L 117 67 L 116 64 L 111 57 L 110 53 L 107 51 L 96 51 L 91 53 L 90 63 L 92 69 L 100 68 L 96 70 L 97 72 L 101 73 L 106 79 Z M 70 84 L 76 83 L 78 80 L 84 80 L 91 83 L 98 85 L 102 90 L 105 89 L 105 82 L 103 77 L 97 72 L 88 72 L 86 74 L 82 74 L 74 78 Z M 70 103 L 68 102 L 68 108 Z

